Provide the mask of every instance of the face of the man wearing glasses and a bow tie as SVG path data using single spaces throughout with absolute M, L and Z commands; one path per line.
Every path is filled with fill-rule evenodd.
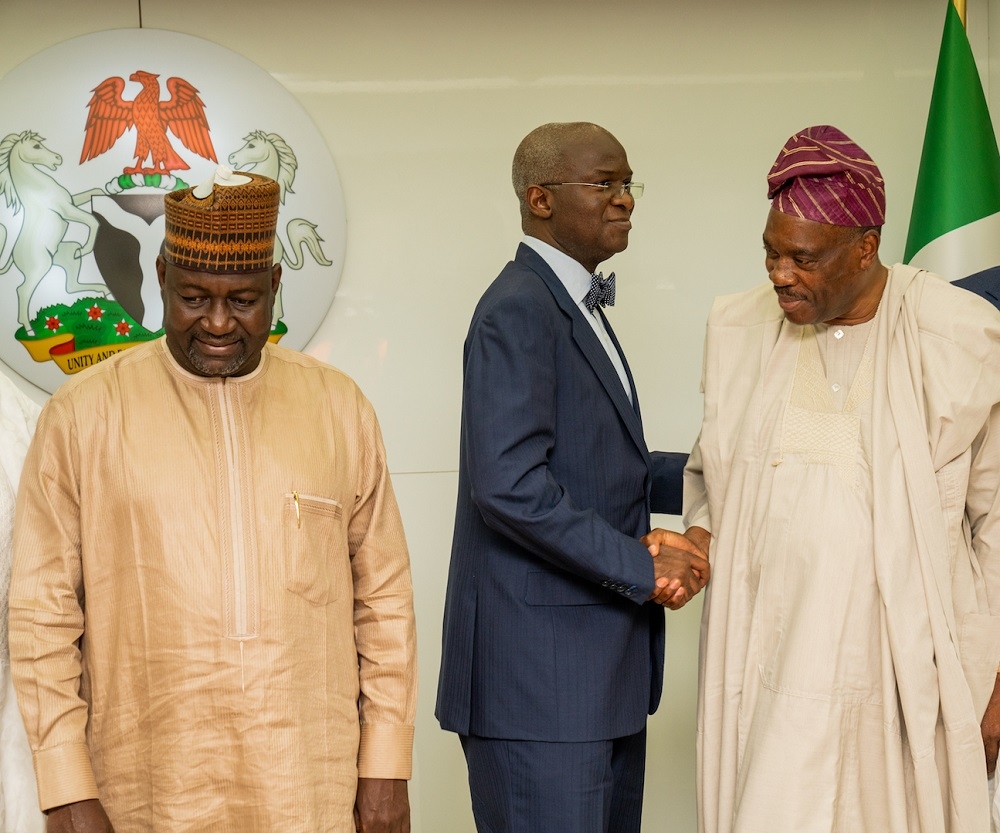
M 632 169 L 618 140 L 600 128 L 569 137 L 561 159 L 559 181 L 610 183 L 612 187 L 532 185 L 527 195 L 532 216 L 525 230 L 593 272 L 628 246 L 635 200 L 618 192 L 623 182 L 631 182 Z

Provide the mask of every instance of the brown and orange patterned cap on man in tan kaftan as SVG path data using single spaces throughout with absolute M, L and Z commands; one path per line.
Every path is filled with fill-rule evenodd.
M 278 183 L 220 165 L 195 188 L 164 199 L 166 260 L 196 272 L 263 272 L 274 261 Z

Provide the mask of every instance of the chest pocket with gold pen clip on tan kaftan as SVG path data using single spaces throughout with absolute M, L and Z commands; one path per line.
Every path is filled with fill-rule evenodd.
M 330 604 L 340 596 L 344 569 L 340 562 L 347 561 L 343 514 L 341 504 L 332 498 L 301 492 L 285 495 L 285 587 L 310 604 Z

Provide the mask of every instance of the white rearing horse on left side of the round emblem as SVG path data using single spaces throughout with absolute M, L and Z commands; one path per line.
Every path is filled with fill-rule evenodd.
M 21 230 L 7 262 L 0 267 L 0 275 L 18 268 L 24 280 L 17 288 L 17 321 L 28 335 L 33 335 L 28 317 L 28 303 L 42 279 L 53 266 L 66 273 L 67 292 L 94 292 L 106 297 L 109 292 L 103 284 L 80 283 L 81 259 L 94 249 L 97 239 L 97 219 L 80 206 L 99 188 L 72 195 L 42 168 L 54 171 L 62 164 L 62 157 L 42 142 L 45 140 L 31 130 L 11 133 L 0 142 L 0 192 L 8 208 L 18 214 L 24 209 Z M 87 239 L 81 245 L 66 240 L 70 223 L 87 227 Z M 7 242 L 7 230 L 0 225 L 0 252 Z

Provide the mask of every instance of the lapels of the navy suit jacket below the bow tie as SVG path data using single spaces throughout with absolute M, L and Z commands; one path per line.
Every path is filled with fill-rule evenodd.
M 642 434 L 642 421 L 639 418 L 639 397 L 636 395 L 635 383 L 632 381 L 632 371 L 629 369 L 628 362 L 625 361 L 625 355 L 622 353 L 618 339 L 608 325 L 607 319 L 602 314 L 601 317 L 604 318 L 604 325 L 607 328 L 608 334 L 611 336 L 618 355 L 621 356 L 622 364 L 625 365 L 625 373 L 628 375 L 629 385 L 632 387 L 632 402 L 636 403 L 635 407 L 628 401 L 628 395 L 625 393 L 625 388 L 622 387 L 618 371 L 615 370 L 611 359 L 608 358 L 604 345 L 597 338 L 593 327 L 583 317 L 583 313 L 566 291 L 566 287 L 563 286 L 562 281 L 556 277 L 541 255 L 530 246 L 525 246 L 522 243 L 518 246 L 515 260 L 529 267 L 544 281 L 560 309 L 570 319 L 573 340 L 590 363 L 590 366 L 594 369 L 594 373 L 597 374 L 597 378 L 604 386 L 605 391 L 607 391 L 608 396 L 611 397 L 611 401 L 621 415 L 622 421 L 628 428 L 636 447 L 642 452 L 647 465 L 649 465 L 649 449 L 646 448 L 646 439 Z

